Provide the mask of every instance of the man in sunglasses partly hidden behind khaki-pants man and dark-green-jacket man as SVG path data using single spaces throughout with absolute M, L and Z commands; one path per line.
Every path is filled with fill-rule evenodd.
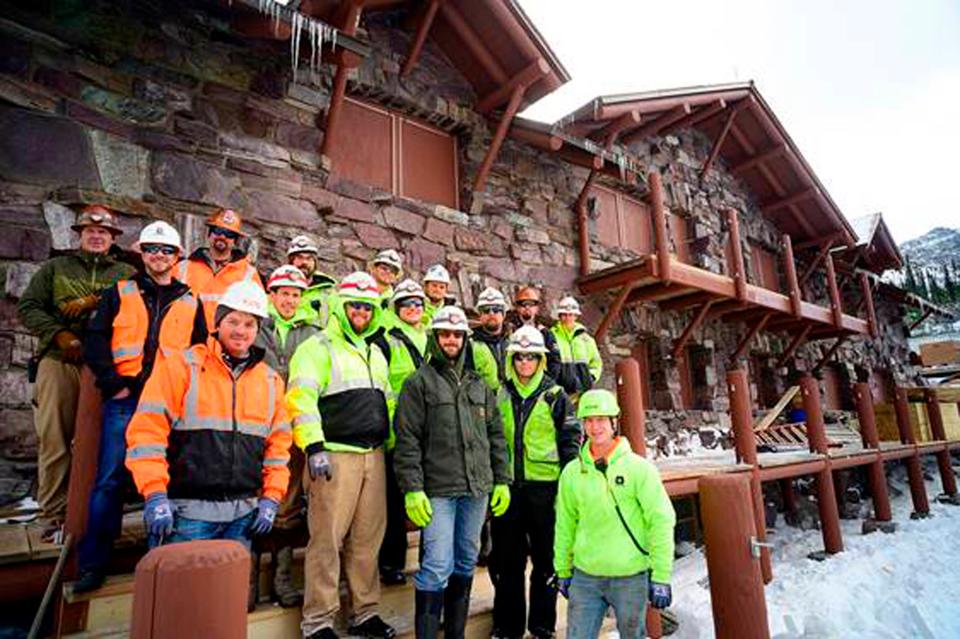
M 390 423 L 396 410 L 396 397 L 403 383 L 423 364 L 427 350 L 427 329 L 423 326 L 425 295 L 411 279 L 397 284 L 387 314 L 385 331 L 378 333 L 376 344 L 383 351 L 389 366 L 391 397 L 387 401 Z M 387 462 L 387 530 L 380 546 L 380 581 L 387 585 L 406 583 L 403 569 L 407 562 L 407 515 L 403 493 L 397 485 L 393 469 L 395 433 L 390 428 L 386 445 Z

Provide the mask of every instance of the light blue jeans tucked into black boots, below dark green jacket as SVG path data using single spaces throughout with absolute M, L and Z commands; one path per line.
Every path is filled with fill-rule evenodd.
M 423 558 L 413 577 L 417 590 L 443 592 L 450 575 L 473 576 L 487 501 L 486 495 L 430 498 L 433 517 L 420 535 Z

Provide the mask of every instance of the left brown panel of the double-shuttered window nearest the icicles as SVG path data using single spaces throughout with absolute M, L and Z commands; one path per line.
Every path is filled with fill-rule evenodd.
M 393 117 L 346 98 L 330 147 L 338 177 L 393 191 Z

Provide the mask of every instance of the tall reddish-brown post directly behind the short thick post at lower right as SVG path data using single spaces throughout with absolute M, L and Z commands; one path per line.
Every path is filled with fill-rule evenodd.
M 742 368 L 727 373 L 727 392 L 730 395 L 730 420 L 733 422 L 733 436 L 737 448 L 737 457 L 750 464 L 750 493 L 753 502 L 754 526 L 757 539 L 767 539 L 767 518 L 763 508 L 763 493 L 760 487 L 760 466 L 757 462 L 757 438 L 753 433 L 753 416 L 750 411 L 750 384 L 747 371 Z M 760 551 L 760 569 L 763 582 L 773 581 L 773 565 L 770 551 Z

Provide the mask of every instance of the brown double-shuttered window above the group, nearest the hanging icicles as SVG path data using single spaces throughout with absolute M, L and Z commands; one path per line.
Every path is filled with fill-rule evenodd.
M 330 147 L 333 171 L 395 195 L 458 207 L 457 142 L 399 113 L 343 101 Z

